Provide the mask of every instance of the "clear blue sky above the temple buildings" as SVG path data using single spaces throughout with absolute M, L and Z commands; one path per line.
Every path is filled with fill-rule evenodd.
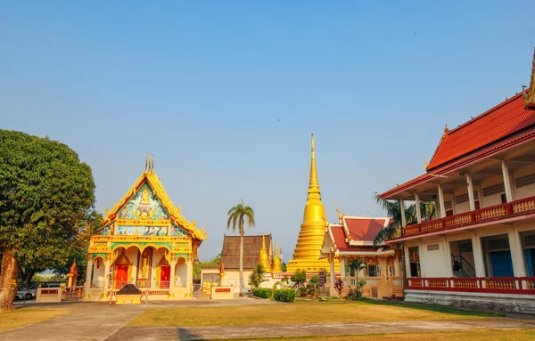
M 95 3 L 95 4 L 93 4 Z M 217 255 L 241 198 L 291 258 L 310 134 L 328 220 L 383 215 L 453 128 L 529 83 L 532 12 L 505 1 L 0 5 L 0 126 L 68 144 L 111 208 L 144 169 Z M 469 4 L 465 4 L 469 3 Z M 279 121 L 280 119 L 280 121 Z

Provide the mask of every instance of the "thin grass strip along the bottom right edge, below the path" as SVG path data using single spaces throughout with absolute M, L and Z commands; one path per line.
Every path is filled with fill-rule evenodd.
M 452 331 L 432 333 L 407 334 L 367 334 L 343 337 L 272 337 L 272 338 L 233 338 L 233 341 L 358 341 L 358 340 L 385 340 L 385 341 L 531 341 L 535 339 L 535 329 Z

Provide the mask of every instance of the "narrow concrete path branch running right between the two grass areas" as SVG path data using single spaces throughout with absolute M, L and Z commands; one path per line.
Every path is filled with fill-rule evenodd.
M 377 333 L 466 331 L 473 329 L 535 329 L 535 321 L 509 318 L 451 321 L 395 321 L 226 327 L 124 327 L 106 341 L 206 340 L 248 337 L 307 337 Z

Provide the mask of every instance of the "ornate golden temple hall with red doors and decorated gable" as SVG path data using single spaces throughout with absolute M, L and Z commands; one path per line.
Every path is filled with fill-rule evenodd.
M 84 300 L 109 299 L 127 284 L 153 298 L 184 299 L 193 292 L 193 259 L 206 239 L 175 207 L 154 173 L 144 173 L 111 209 L 87 250 Z

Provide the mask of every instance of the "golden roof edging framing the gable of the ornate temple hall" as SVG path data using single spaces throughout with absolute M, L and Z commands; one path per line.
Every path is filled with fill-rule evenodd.
M 169 219 L 173 223 L 176 223 L 178 226 L 184 228 L 196 240 L 206 239 L 206 231 L 204 231 L 203 228 L 201 228 L 201 230 L 198 230 L 196 228 L 195 221 L 190 223 L 187 219 L 185 219 L 184 215 L 180 213 L 181 207 L 176 207 L 171 201 L 171 199 L 169 199 L 169 195 L 163 188 L 160 178 L 158 177 L 158 175 L 156 175 L 156 173 L 154 173 L 153 161 L 150 161 L 148 159 L 145 162 L 144 173 L 139 176 L 139 178 L 137 178 L 136 183 L 134 183 L 132 187 L 130 187 L 130 189 L 122 197 L 122 199 L 120 199 L 119 202 L 115 204 L 113 208 L 111 208 L 111 210 L 105 208 L 106 218 L 104 218 L 103 226 L 107 225 L 118 216 L 118 213 L 121 208 L 128 203 L 128 200 L 136 194 L 136 191 L 144 183 L 148 183 L 148 185 L 152 188 L 154 195 L 160 200 L 161 205 L 169 213 Z

